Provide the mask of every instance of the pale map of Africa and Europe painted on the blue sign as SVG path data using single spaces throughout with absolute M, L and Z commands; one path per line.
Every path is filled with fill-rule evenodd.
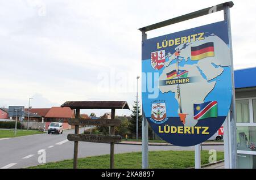
M 199 61 L 191 61 L 191 47 L 199 46 L 207 42 L 214 43 L 214 57 L 206 57 Z M 229 47 L 221 40 L 220 37 L 210 35 L 204 40 L 181 44 L 175 48 L 179 50 L 179 70 L 188 71 L 189 77 L 196 77 L 197 81 L 188 84 L 180 84 L 180 100 L 183 113 L 187 114 L 185 126 L 195 126 L 197 121 L 193 119 L 193 104 L 201 104 L 205 98 L 212 93 L 216 84 L 219 83 L 217 77 L 222 76 L 225 67 L 230 66 Z M 166 63 L 159 81 L 167 79 L 167 73 L 176 70 L 177 57 L 175 54 L 167 54 Z M 162 93 L 175 93 L 177 97 L 177 85 L 159 86 Z M 179 113 L 178 106 L 172 106 Z

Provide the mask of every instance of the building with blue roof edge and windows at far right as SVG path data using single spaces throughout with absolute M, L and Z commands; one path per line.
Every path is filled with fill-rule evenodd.
M 234 72 L 238 168 L 256 169 L 256 67 Z

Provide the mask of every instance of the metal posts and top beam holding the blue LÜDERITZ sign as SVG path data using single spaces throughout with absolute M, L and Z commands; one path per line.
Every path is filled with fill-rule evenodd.
M 234 68 L 233 68 L 233 50 L 232 50 L 232 35 L 230 26 L 230 8 L 234 6 L 232 1 L 221 3 L 220 5 L 204 8 L 199 11 L 191 12 L 176 18 L 165 20 L 160 23 L 148 25 L 143 28 L 139 28 L 142 32 L 142 41 L 147 40 L 147 31 L 162 28 L 167 25 L 184 22 L 185 20 L 198 18 L 200 16 L 208 15 L 218 11 L 224 11 L 224 19 L 228 22 L 228 37 L 231 54 L 231 70 L 232 70 L 232 105 L 230 106 L 229 115 L 226 118 L 224 130 L 226 134 L 225 143 L 225 168 L 237 168 L 237 147 L 236 147 L 236 103 L 235 103 L 235 91 L 234 91 Z M 142 168 L 148 168 L 148 122 L 142 109 Z M 195 162 L 196 168 L 200 168 L 200 145 L 195 145 Z

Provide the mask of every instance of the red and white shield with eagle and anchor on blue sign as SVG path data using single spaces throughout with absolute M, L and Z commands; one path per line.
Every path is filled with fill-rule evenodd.
M 166 62 L 166 51 L 160 50 L 158 52 L 151 53 L 151 66 L 155 70 L 160 70 Z

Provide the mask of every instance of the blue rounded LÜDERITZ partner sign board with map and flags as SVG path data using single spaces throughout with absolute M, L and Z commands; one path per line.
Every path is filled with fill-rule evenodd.
M 142 41 L 142 104 L 167 142 L 209 139 L 232 102 L 232 60 L 226 21 Z

